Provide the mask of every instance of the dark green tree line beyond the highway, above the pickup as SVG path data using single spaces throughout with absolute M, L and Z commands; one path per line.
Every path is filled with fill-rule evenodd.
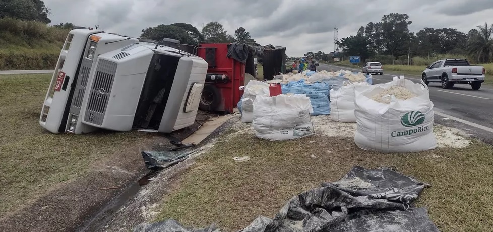
M 388 64 L 407 64 L 408 54 L 410 57 L 463 55 L 476 63 L 493 61 L 493 27 L 487 23 L 467 34 L 455 28 L 428 27 L 414 33 L 409 31 L 411 24 L 407 14 L 384 15 L 380 22 L 369 22 L 361 26 L 356 35 L 337 41 L 342 50 L 340 55 L 360 56 L 361 62 L 382 60 Z

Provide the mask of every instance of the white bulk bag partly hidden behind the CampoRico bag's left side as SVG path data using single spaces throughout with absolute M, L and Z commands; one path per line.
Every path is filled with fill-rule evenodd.
M 331 89 L 330 94 L 330 117 L 336 122 L 356 122 L 354 116 L 354 87 L 371 86 L 367 82 L 349 83 L 338 90 Z

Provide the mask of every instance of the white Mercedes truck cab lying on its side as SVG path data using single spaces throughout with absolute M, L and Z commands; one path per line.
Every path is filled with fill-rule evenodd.
M 154 129 L 195 122 L 205 60 L 161 43 L 70 31 L 43 102 L 39 123 L 52 133 Z

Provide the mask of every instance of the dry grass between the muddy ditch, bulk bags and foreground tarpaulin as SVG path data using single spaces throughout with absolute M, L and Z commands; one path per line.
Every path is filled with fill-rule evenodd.
M 359 149 L 351 137 L 316 135 L 269 142 L 256 139 L 248 128 L 231 133 L 223 135 L 183 176 L 181 187 L 164 200 L 155 220 L 173 218 L 199 227 L 218 222 L 221 229 L 234 231 L 259 214 L 273 218 L 293 195 L 336 181 L 360 165 L 395 167 L 431 184 L 418 205 L 429 208 L 441 231 L 493 228 L 493 149 L 483 143 L 382 154 Z M 232 158 L 237 156 L 252 159 L 234 163 Z

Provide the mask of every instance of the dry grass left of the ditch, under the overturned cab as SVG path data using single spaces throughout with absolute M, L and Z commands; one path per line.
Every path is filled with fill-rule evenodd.
M 51 75 L 0 76 L 0 217 L 58 183 L 70 182 L 115 151 L 149 136 L 100 132 L 51 134 L 39 114 Z

